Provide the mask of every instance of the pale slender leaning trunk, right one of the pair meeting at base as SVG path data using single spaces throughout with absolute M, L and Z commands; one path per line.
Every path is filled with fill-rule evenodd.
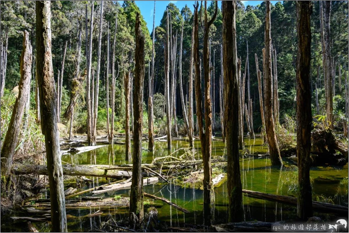
M 101 45 L 102 45 L 102 28 L 103 28 L 103 1 L 101 1 L 101 14 L 99 20 L 99 38 L 98 38 L 98 57 L 97 57 L 97 74 L 96 74 L 96 95 L 95 95 L 95 106 L 94 106 L 94 123 L 92 131 L 92 144 L 96 145 L 96 126 L 98 117 L 98 94 L 99 94 L 99 72 L 101 69 Z

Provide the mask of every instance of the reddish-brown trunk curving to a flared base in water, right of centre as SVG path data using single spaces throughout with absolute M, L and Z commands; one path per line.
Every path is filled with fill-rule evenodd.
M 263 85 L 265 102 L 265 128 L 269 143 L 270 160 L 273 165 L 281 165 L 279 144 L 277 143 L 274 117 L 273 117 L 273 98 L 272 98 L 272 54 L 270 37 L 270 1 L 266 1 L 265 17 L 265 53 L 263 53 Z

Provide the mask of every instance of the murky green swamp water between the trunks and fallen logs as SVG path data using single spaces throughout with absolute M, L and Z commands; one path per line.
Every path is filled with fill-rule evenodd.
M 200 141 L 195 140 L 195 159 L 201 158 Z M 249 153 L 266 153 L 267 147 L 262 145 L 262 141 L 259 138 L 250 140 L 245 138 L 245 149 Z M 131 146 L 132 148 L 132 146 Z M 147 148 L 147 142 L 143 143 L 143 148 Z M 180 148 L 189 148 L 188 142 L 185 141 L 172 141 L 172 150 L 174 152 L 172 156 L 179 157 L 185 153 L 185 150 Z M 178 150 L 180 149 L 180 150 Z M 176 152 L 175 152 L 176 151 Z M 151 163 L 155 157 L 163 157 L 168 155 L 166 142 L 155 142 L 155 151 L 148 152 L 142 151 L 142 163 Z M 224 143 L 222 141 L 212 141 L 212 157 L 222 157 L 224 153 Z M 99 164 L 99 165 L 120 165 L 128 163 L 125 161 L 125 145 L 115 144 L 105 145 L 101 148 L 97 148 L 92 151 L 62 156 L 63 164 Z M 283 158 L 284 165 L 282 168 L 274 167 L 270 165 L 270 159 L 268 157 L 246 157 L 240 158 L 240 171 L 241 182 L 243 189 L 260 191 L 263 193 L 279 194 L 296 196 L 297 194 L 297 182 L 298 173 L 296 166 L 292 161 Z M 224 169 L 221 169 L 222 171 Z M 312 167 L 310 171 L 313 200 L 329 202 L 333 204 L 348 205 L 348 164 L 345 166 L 327 166 L 327 167 Z M 337 180 L 332 184 L 314 182 L 315 178 L 328 178 Z M 90 178 L 90 177 L 89 177 Z M 88 186 L 82 187 L 83 189 L 93 188 L 98 185 L 102 185 L 107 182 L 105 178 L 94 178 Z M 185 187 L 183 184 L 179 185 L 180 181 L 173 179 L 170 183 L 160 182 L 147 185 L 143 187 L 144 192 L 150 193 L 159 197 L 167 198 L 168 200 L 176 203 L 179 206 L 190 211 L 190 213 L 183 213 L 174 209 L 172 206 L 163 203 L 162 201 L 155 201 L 155 203 L 162 204 L 163 206 L 157 208 L 158 222 L 161 225 L 167 226 L 183 226 L 186 224 L 202 224 L 202 202 L 203 202 L 203 190 L 193 187 Z M 80 190 L 78 190 L 80 191 Z M 227 222 L 227 183 L 215 187 L 215 223 Z M 43 194 L 43 198 L 49 198 L 49 192 Z M 85 193 L 81 196 L 91 196 L 91 193 Z M 81 197 L 80 196 L 80 197 Z M 129 189 L 117 190 L 110 193 L 102 193 L 97 196 L 100 197 L 114 197 L 114 196 L 129 196 Z M 297 219 L 296 206 L 281 204 L 272 201 L 259 200 L 252 197 L 247 197 L 243 194 L 244 202 L 244 220 L 246 221 L 281 221 Z M 102 216 L 92 218 L 79 218 L 89 213 L 96 211 L 103 211 Z M 77 218 L 68 219 L 68 231 L 90 231 L 99 226 L 102 221 L 106 220 L 106 215 L 111 214 L 115 220 L 119 220 L 124 216 L 127 216 L 128 209 L 120 207 L 109 208 L 93 208 L 84 206 L 79 209 L 67 209 L 67 215 L 76 216 Z M 144 209 L 147 212 L 147 209 Z M 14 213 L 13 216 L 28 216 L 23 213 Z M 325 213 L 314 212 L 314 216 L 318 216 L 322 219 L 334 220 L 340 216 L 334 216 Z M 2 231 L 27 231 L 27 224 L 25 222 L 14 222 L 5 216 L 1 217 L 1 230 Z M 6 225 L 3 220 L 6 221 Z M 49 224 L 37 223 L 36 225 L 42 231 L 49 231 Z

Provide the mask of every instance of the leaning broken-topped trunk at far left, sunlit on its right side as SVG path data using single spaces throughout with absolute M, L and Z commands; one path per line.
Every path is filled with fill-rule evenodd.
M 1 174 L 7 179 L 10 175 L 13 156 L 17 145 L 18 134 L 23 118 L 24 108 L 30 92 L 32 46 L 29 42 L 29 33 L 23 32 L 23 50 L 20 60 L 21 79 L 18 86 L 18 97 L 12 110 L 5 140 L 1 148 Z

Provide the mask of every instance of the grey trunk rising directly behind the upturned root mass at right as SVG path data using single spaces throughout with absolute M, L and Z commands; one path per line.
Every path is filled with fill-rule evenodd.
M 329 17 L 331 13 L 331 1 L 325 1 L 325 9 L 320 2 L 320 28 L 322 39 L 322 63 L 324 66 L 325 94 L 326 94 L 326 123 L 333 128 L 333 90 L 332 90 L 332 66 L 330 48 Z M 325 18 L 325 22 L 324 22 Z

